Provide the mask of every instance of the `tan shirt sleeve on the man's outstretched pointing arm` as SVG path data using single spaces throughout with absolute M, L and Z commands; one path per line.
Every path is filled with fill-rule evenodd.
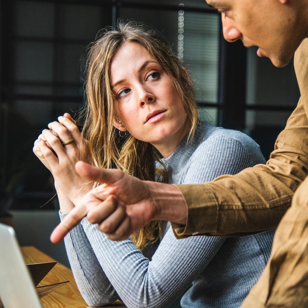
M 308 170 L 307 50 L 305 39 L 294 59 L 301 97 L 267 164 L 211 183 L 177 185 L 188 208 L 186 224 L 172 224 L 178 238 L 196 233 L 237 236 L 277 227 Z

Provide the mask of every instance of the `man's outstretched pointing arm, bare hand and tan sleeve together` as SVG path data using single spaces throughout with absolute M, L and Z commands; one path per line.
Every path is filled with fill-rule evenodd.
M 179 238 L 192 234 L 237 236 L 276 228 L 307 175 L 307 131 L 300 99 L 267 165 L 205 184 L 141 181 L 116 169 L 77 163 L 82 177 L 105 184 L 82 199 L 56 228 L 52 241 L 60 241 L 85 216 L 113 240 L 125 239 L 155 219 L 173 222 Z M 108 198 L 110 195 L 115 198 Z

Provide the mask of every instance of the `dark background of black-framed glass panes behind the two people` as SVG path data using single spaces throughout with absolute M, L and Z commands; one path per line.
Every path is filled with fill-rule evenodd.
M 255 48 L 224 41 L 220 15 L 203 0 L 1 0 L 0 10 L 0 202 L 24 244 L 29 225 L 41 231 L 58 219 L 56 198 L 41 208 L 55 192 L 33 143 L 59 115 L 80 111 L 86 47 L 117 18 L 160 30 L 198 85 L 201 118 L 251 135 L 266 158 L 299 98 L 293 63 L 277 69 Z

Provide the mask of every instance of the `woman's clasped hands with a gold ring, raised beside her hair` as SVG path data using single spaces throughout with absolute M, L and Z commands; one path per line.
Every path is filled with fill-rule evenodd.
M 93 185 L 75 171 L 77 161 L 89 161 L 86 142 L 82 140 L 76 122 L 69 113 L 49 123 L 48 128 L 34 142 L 33 152 L 52 173 L 58 195 L 65 195 L 76 205 Z

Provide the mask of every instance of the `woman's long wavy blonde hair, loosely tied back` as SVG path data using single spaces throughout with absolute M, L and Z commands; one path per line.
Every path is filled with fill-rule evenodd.
M 100 168 L 118 168 L 142 180 L 155 181 L 157 175 L 167 181 L 166 170 L 155 168 L 159 153 L 147 142 L 129 135 L 119 143 L 119 131 L 113 126 L 116 117 L 111 90 L 110 64 L 126 42 L 137 42 L 173 80 L 191 122 L 191 137 L 198 123 L 198 112 L 192 83 L 182 62 L 167 40 L 157 31 L 136 22 L 119 21 L 115 27 L 102 30 L 90 45 L 85 75 L 85 124 L 82 135 L 87 140 L 93 163 Z M 163 165 L 162 165 L 163 166 Z M 142 250 L 160 234 L 160 223 L 153 221 L 133 234 L 133 242 Z

